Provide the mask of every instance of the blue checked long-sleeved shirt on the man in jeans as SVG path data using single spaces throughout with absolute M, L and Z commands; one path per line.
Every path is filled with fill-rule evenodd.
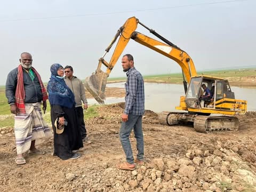
M 143 77 L 135 67 L 126 73 L 125 83 L 125 109 L 126 115 L 143 115 L 145 112 L 145 94 Z

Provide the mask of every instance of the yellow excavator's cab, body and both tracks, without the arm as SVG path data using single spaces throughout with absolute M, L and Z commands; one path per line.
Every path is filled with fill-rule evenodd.
M 209 89 L 210 97 L 202 97 L 205 93 L 202 85 Z M 172 125 L 193 122 L 197 132 L 230 132 L 238 130 L 239 121 L 233 115 L 244 114 L 247 109 L 247 101 L 235 99 L 235 94 L 225 79 L 194 76 L 190 78 L 186 96 L 181 96 L 180 106 L 176 109 L 186 110 L 188 113 L 164 111 L 159 118 L 161 123 L 165 121 L 167 125 Z

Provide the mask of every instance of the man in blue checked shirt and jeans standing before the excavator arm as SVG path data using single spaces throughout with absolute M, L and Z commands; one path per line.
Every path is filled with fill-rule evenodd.
M 142 132 L 142 115 L 145 112 L 144 81 L 138 70 L 134 67 L 133 57 L 126 54 L 122 58 L 123 71 L 126 72 L 125 83 L 125 109 L 122 114 L 122 125 L 119 130 L 119 138 L 124 149 L 126 162 L 118 164 L 122 170 L 134 170 L 137 163 L 142 165 L 144 158 L 144 141 Z M 137 157 L 134 159 L 129 136 L 133 129 L 137 140 Z

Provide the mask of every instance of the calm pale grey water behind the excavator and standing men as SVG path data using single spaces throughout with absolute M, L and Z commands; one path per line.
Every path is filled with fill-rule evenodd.
M 124 88 L 124 82 L 110 83 L 107 87 Z M 256 89 L 248 89 L 241 87 L 231 87 L 235 92 L 236 99 L 247 100 L 247 111 L 256 111 L 255 95 Z M 185 95 L 183 85 L 165 84 L 165 83 L 145 83 L 145 108 L 155 112 L 162 111 L 177 111 L 176 106 L 179 106 L 180 96 Z M 106 98 L 105 103 L 124 102 L 124 98 Z M 97 103 L 95 99 L 88 99 L 89 105 Z

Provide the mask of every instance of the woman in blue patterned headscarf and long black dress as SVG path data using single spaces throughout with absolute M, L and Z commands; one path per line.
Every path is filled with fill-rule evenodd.
M 51 78 L 47 84 L 47 92 L 49 93 L 54 132 L 53 154 L 66 160 L 81 156 L 78 153 L 73 153 L 73 150 L 83 147 L 83 141 L 76 123 L 75 96 L 66 85 L 63 76 L 63 67 L 59 63 L 53 64 L 51 66 Z M 57 122 L 55 123 L 56 119 Z M 64 130 L 59 131 L 55 125 L 64 127 Z

